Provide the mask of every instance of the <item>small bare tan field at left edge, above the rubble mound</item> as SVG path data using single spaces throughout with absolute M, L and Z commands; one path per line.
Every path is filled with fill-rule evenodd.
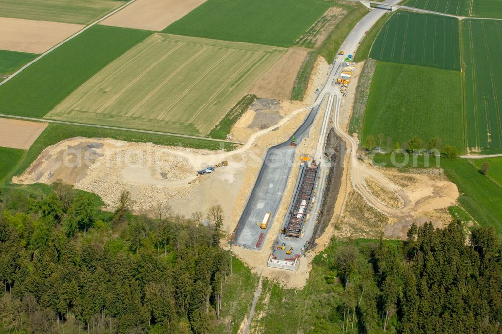
M 0 118 L 0 146 L 28 149 L 47 123 Z

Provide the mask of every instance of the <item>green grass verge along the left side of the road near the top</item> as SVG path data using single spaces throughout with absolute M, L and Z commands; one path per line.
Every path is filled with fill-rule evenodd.
M 339 7 L 340 5 L 337 4 L 336 6 Z M 331 31 L 319 48 L 320 55 L 326 59 L 328 64 L 334 61 L 340 45 L 355 27 L 357 22 L 368 14 L 368 9 L 359 3 L 357 3 L 356 6 L 344 6 L 343 8 L 348 11 L 347 15 L 336 25 L 335 29 Z

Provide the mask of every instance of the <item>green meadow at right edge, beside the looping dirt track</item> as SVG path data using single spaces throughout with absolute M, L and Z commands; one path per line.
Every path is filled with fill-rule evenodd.
M 442 159 L 441 167 L 460 192 L 458 202 L 484 226 L 492 226 L 502 235 L 502 188 L 478 172 L 465 159 Z

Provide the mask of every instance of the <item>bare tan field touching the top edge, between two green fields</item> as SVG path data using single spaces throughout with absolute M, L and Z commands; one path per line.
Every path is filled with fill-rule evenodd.
M 105 26 L 161 31 L 206 0 L 137 0 L 100 22 Z

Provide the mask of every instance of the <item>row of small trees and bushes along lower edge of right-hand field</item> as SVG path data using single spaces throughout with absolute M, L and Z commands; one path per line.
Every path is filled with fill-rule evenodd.
M 385 141 L 384 141 L 385 139 Z M 452 145 L 443 145 L 440 137 L 432 137 L 428 142 L 425 142 L 422 138 L 418 136 L 413 136 L 409 141 L 400 143 L 399 141 L 392 144 L 392 139 L 390 137 L 385 138 L 383 133 L 379 133 L 376 137 L 368 135 L 364 138 L 364 147 L 368 150 L 373 150 L 375 147 L 383 148 L 385 145 L 386 150 L 390 151 L 392 149 L 399 150 L 403 149 L 409 153 L 416 150 L 438 150 L 444 153 L 447 157 L 457 157 L 457 147 Z

